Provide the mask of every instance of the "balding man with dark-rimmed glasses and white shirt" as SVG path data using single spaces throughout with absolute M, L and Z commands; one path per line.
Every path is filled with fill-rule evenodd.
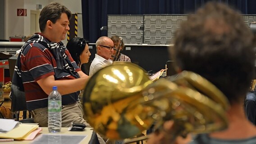
M 96 51 L 97 54 L 95 54 L 95 58 L 91 62 L 90 66 L 90 76 L 92 76 L 101 68 L 112 64 L 112 60 L 110 58 L 114 53 L 113 41 L 107 36 L 101 36 L 96 41 Z

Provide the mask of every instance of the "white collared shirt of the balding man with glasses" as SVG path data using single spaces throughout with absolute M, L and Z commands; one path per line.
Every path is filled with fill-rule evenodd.
M 89 76 L 92 76 L 94 73 L 96 73 L 101 68 L 109 66 L 112 63 L 113 62 L 111 59 L 105 59 L 105 58 L 99 56 L 98 54 L 95 54 L 95 58 L 91 62 Z

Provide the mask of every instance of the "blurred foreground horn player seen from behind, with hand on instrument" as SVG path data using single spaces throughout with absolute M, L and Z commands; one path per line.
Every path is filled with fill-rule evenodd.
M 243 101 L 254 75 L 255 38 L 242 15 L 225 4 L 209 2 L 181 24 L 174 52 L 181 70 L 196 72 L 221 90 L 230 103 L 225 130 L 172 139 L 173 121 L 147 144 L 256 144 L 256 127 L 245 116 Z M 174 57 L 172 57 L 174 58 Z

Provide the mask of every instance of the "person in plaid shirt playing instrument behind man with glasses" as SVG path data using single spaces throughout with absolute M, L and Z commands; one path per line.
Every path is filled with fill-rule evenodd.
M 131 62 L 131 58 L 121 53 L 121 51 L 124 48 L 123 40 L 121 40 L 119 36 L 112 36 L 110 39 L 114 42 L 114 46 L 116 47 L 116 49 L 114 49 L 113 56 L 117 57 L 117 61 Z M 119 50 L 119 54 L 117 54 L 118 50 Z M 111 59 L 114 60 L 114 57 L 112 57 Z

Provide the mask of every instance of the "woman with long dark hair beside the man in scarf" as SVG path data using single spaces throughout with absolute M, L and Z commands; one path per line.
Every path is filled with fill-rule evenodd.
M 91 55 L 88 41 L 81 37 L 74 37 L 69 40 L 66 47 L 78 67 L 81 68 L 82 72 L 88 75 L 89 69 L 86 69 L 85 65 L 83 65 L 84 63 L 89 62 Z

